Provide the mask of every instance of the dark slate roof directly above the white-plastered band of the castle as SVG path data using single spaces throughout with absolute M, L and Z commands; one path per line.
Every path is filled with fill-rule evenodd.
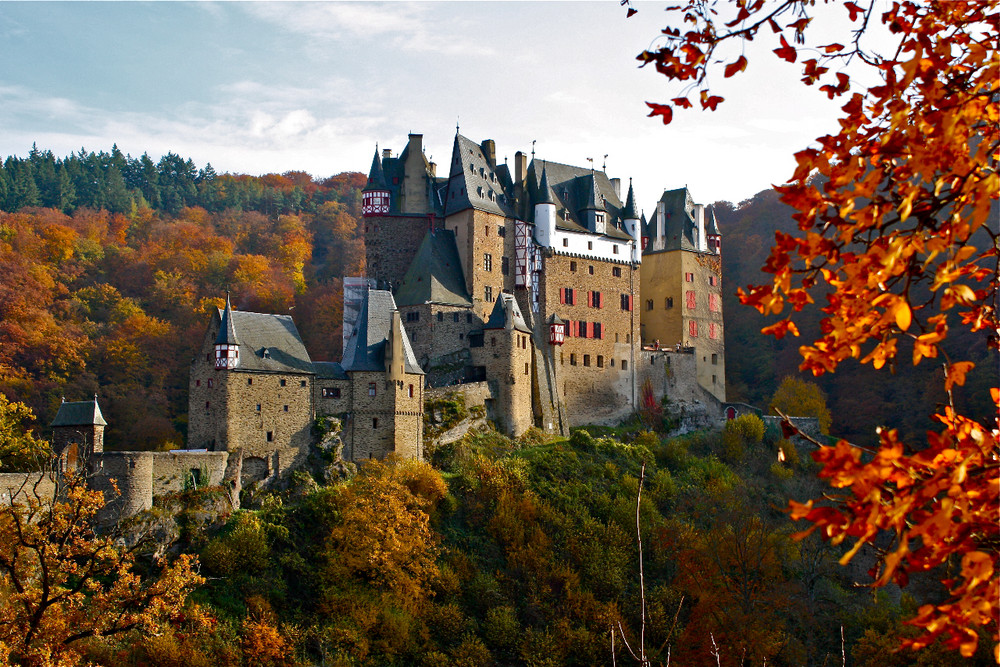
M 622 202 L 615 194 L 611 179 L 603 171 L 573 167 L 568 164 L 533 160 L 528 166 L 528 191 L 532 206 L 542 196 L 542 174 L 548 178 L 556 204 L 556 229 L 593 233 L 587 228 L 583 212 L 589 209 L 607 211 L 608 224 L 605 236 L 623 241 L 631 237 L 622 226 Z

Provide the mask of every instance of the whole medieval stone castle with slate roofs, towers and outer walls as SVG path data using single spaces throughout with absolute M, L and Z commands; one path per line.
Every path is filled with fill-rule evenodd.
M 345 279 L 339 363 L 313 361 L 291 317 L 227 297 L 191 362 L 187 449 L 103 452 L 95 397 L 53 422 L 61 464 L 116 479 L 129 514 L 185 485 L 280 477 L 323 415 L 348 460 L 422 457 L 425 400 L 443 392 L 511 436 L 617 421 L 644 386 L 722 418 L 721 235 L 687 188 L 646 221 L 631 183 L 623 201 L 604 171 L 522 152 L 511 168 L 456 133 L 447 176 L 411 134 L 376 149 L 362 194 L 368 276 Z

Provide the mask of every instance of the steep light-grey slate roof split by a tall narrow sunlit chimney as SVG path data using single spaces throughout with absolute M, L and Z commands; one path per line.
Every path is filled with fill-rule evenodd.
M 361 303 L 361 312 L 354 326 L 354 333 L 347 341 L 340 365 L 344 371 L 385 371 L 385 347 L 392 325 L 392 311 L 396 302 L 386 290 L 369 290 Z M 403 327 L 403 356 L 406 372 L 423 375 L 410 346 L 410 339 Z

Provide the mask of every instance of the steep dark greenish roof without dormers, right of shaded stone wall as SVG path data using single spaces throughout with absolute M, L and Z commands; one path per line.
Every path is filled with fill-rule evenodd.
M 462 262 L 455 245 L 455 233 L 428 231 L 395 294 L 397 306 L 440 303 L 472 306 L 465 288 Z

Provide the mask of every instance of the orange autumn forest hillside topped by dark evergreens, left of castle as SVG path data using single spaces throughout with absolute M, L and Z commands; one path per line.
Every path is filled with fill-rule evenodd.
M 183 445 L 188 367 L 226 291 L 291 313 L 337 360 L 341 279 L 364 272 L 360 188 L 291 172 L 216 176 L 117 149 L 0 169 L 0 391 L 44 432 L 62 397 L 98 393 L 110 449 Z

